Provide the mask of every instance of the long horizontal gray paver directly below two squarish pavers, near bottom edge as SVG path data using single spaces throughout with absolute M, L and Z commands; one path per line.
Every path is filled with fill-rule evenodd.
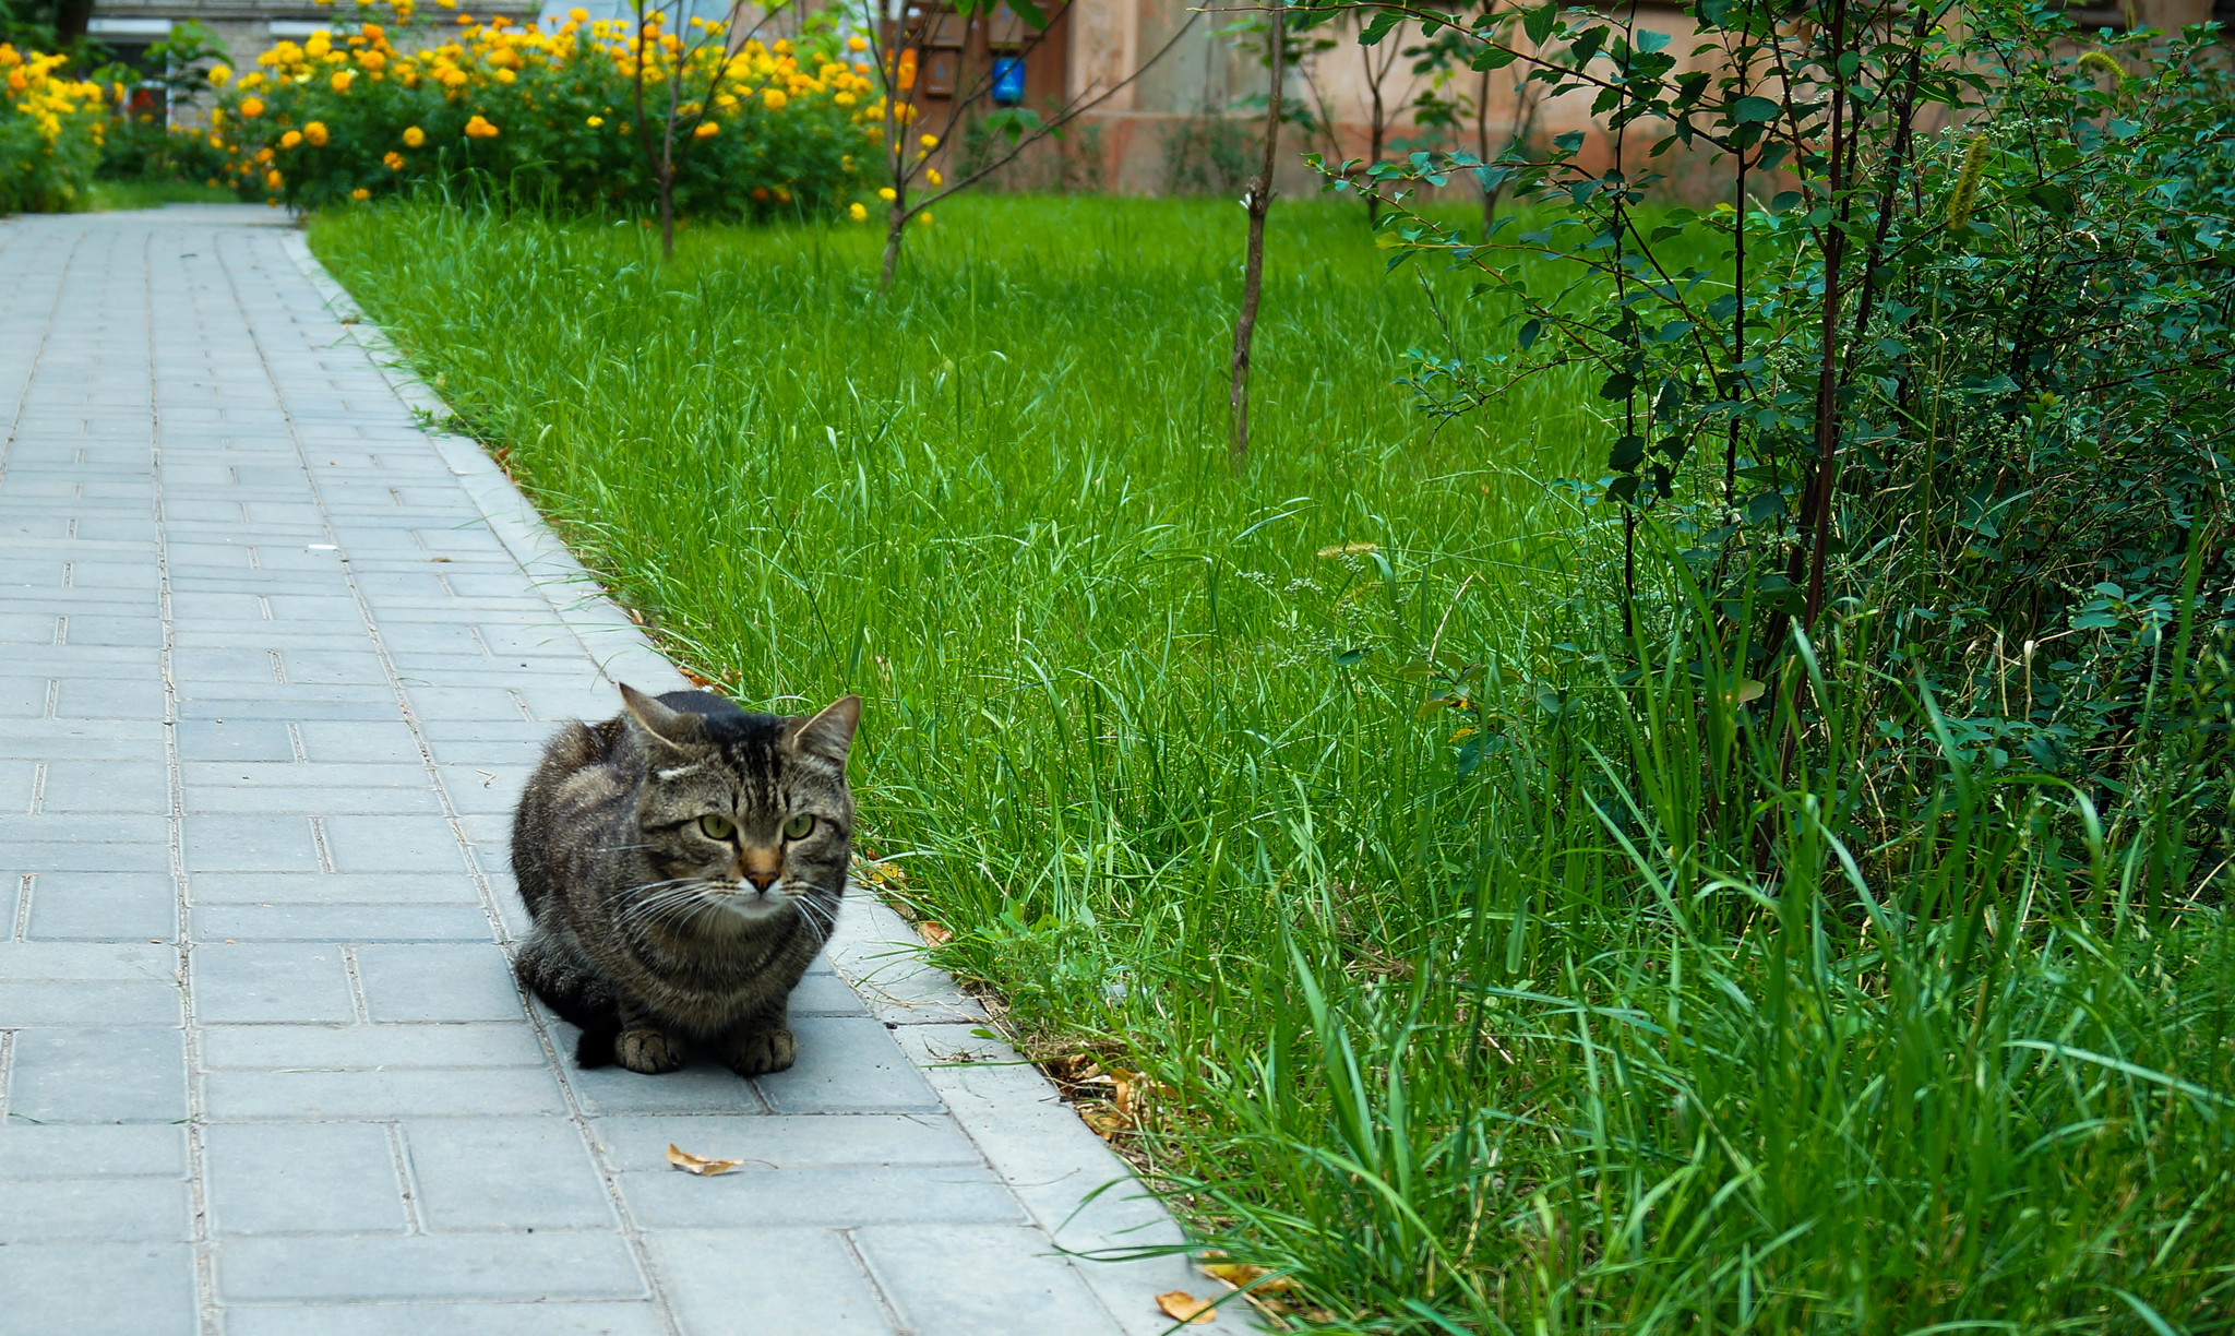
M 644 1291 L 628 1244 L 603 1231 L 244 1238 L 217 1247 L 217 1298 L 226 1302 L 563 1300 Z

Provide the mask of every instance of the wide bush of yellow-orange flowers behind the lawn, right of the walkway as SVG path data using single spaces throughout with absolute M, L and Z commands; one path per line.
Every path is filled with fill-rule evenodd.
M 317 208 L 438 183 L 568 212 L 646 212 L 657 199 L 646 136 L 657 145 L 666 130 L 668 78 L 686 98 L 715 87 L 704 118 L 682 103 L 697 118 L 682 127 L 691 152 L 677 154 L 684 214 L 845 208 L 854 156 L 874 136 L 869 71 L 831 40 L 744 42 L 717 78 L 724 42 L 702 40 L 717 27 L 693 49 L 653 22 L 639 87 L 628 25 L 586 22 L 581 9 L 557 31 L 460 16 L 449 40 L 413 31 L 409 0 L 396 18 L 393 34 L 367 22 L 279 42 L 239 80 L 210 71 L 230 83 L 212 125 L 244 199 Z

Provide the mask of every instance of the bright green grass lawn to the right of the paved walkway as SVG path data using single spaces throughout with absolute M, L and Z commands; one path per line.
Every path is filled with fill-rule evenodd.
M 1725 646 L 1625 643 L 1549 485 L 1585 384 L 1413 413 L 1404 349 L 1502 311 L 1439 319 L 1350 210 L 1276 210 L 1229 469 L 1238 244 L 1223 201 L 979 199 L 881 299 L 867 228 L 666 268 L 637 228 L 313 228 L 684 661 L 867 697 L 863 833 L 939 961 L 1147 1072 L 1129 1142 L 1290 1320 L 2228 1329 L 2235 943 L 2134 894 L 2179 831 L 1942 769 L 1873 844 L 1848 630 L 1752 724 Z M 1784 782 L 1763 717 L 1804 722 Z

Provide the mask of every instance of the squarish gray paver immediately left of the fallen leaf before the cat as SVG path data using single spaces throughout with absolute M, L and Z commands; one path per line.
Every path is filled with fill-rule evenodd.
M 427 1119 L 402 1128 L 434 1231 L 615 1229 L 581 1130 L 563 1119 Z

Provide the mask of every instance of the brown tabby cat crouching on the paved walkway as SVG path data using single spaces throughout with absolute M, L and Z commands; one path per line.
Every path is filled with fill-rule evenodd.
M 854 833 L 860 697 L 807 719 L 704 690 L 568 724 L 512 818 L 534 929 L 512 967 L 581 1025 L 574 1061 L 673 1072 L 693 1041 L 746 1077 L 791 1066 L 791 987 L 831 934 Z

